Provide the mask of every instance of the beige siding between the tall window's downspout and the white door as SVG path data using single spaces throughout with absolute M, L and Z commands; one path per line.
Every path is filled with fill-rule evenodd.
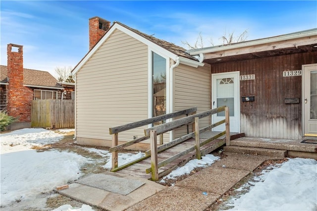
M 174 70 L 174 110 L 197 107 L 197 113 L 210 109 L 211 99 L 211 68 L 209 64 L 203 67 L 190 67 L 180 64 Z M 210 117 L 200 119 L 200 127 L 208 126 Z M 192 126 L 188 126 L 192 132 Z M 187 126 L 178 128 L 174 138 L 187 134 Z

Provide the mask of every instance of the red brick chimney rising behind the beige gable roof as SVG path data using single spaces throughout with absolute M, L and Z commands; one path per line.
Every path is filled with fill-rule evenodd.
M 98 43 L 110 28 L 110 22 L 100 18 L 89 18 L 89 51 Z

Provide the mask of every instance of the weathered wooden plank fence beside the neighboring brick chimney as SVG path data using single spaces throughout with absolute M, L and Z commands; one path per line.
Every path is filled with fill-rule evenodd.
M 74 100 L 34 100 L 31 109 L 31 127 L 74 127 Z

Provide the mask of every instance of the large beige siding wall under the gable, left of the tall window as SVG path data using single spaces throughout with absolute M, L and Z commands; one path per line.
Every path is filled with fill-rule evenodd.
M 148 118 L 148 47 L 115 30 L 76 74 L 76 115 L 76 137 L 99 140 L 111 140 L 110 127 Z

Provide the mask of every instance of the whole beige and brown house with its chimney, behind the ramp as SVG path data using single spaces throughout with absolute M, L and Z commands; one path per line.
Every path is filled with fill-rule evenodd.
M 317 135 L 317 29 L 192 51 L 99 17 L 89 20 L 89 31 L 90 51 L 72 71 L 79 144 L 111 146 L 110 127 L 195 106 L 229 106 L 230 130 L 246 136 Z M 224 114 L 200 126 L 219 118 Z M 145 128 L 122 132 L 119 141 Z

